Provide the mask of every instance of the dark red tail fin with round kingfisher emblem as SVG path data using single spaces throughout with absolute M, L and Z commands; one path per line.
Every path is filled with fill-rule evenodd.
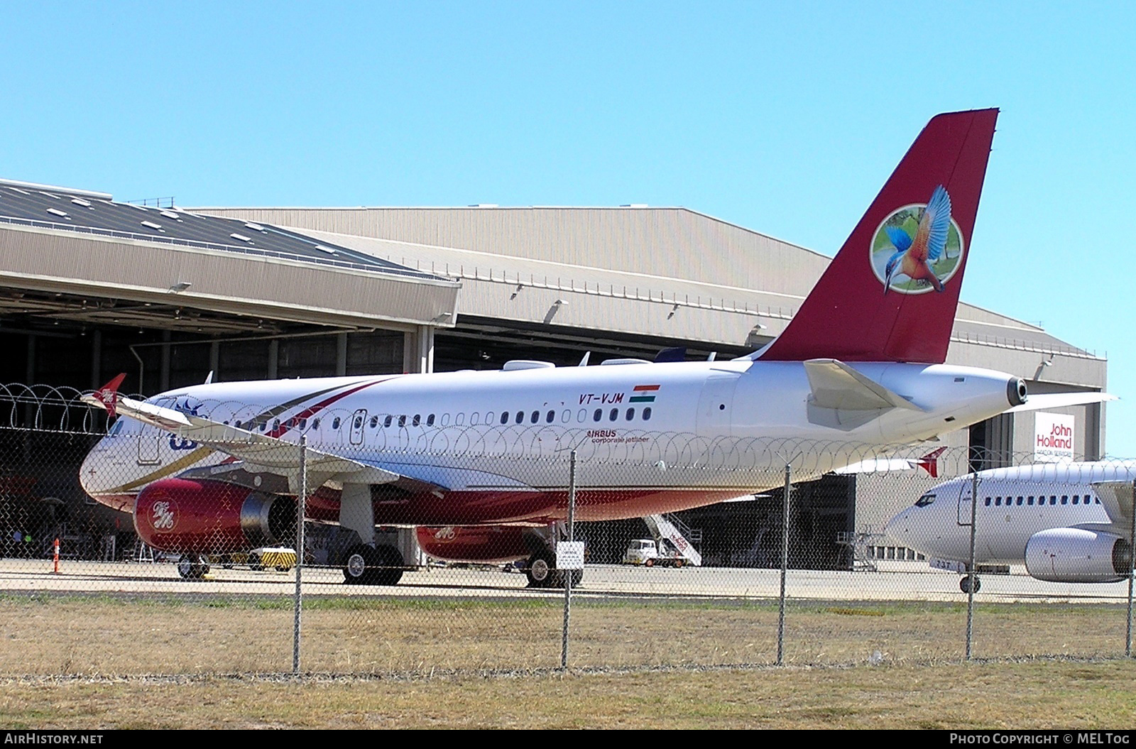
M 934 117 L 758 358 L 942 364 L 996 119 L 996 109 Z

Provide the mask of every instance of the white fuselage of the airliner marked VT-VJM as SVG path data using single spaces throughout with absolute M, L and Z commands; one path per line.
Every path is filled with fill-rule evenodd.
M 149 402 L 285 441 L 304 435 L 314 449 L 432 482 L 456 498 L 562 491 L 567 474 L 549 465 L 575 450 L 586 466 L 577 484 L 612 490 L 604 494 L 610 511 L 596 509 L 593 518 L 670 511 L 778 485 L 787 463 L 801 478 L 816 476 L 1012 405 L 1014 378 L 997 372 L 853 367 L 914 408 L 884 409 L 850 430 L 813 423 L 801 363 L 749 359 L 211 383 Z M 222 446 L 124 422 L 82 468 L 84 489 L 105 504 L 130 509 L 147 484 L 229 459 Z M 643 489 L 673 491 L 657 510 L 651 499 L 620 505 L 620 492 Z

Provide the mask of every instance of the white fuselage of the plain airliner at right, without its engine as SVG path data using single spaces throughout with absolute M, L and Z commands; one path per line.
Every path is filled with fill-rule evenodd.
M 1131 481 L 1136 463 L 1039 464 L 978 477 L 975 560 L 1020 565 L 1029 539 L 1042 531 L 1111 523 L 1093 484 Z M 888 521 L 885 534 L 932 559 L 968 561 L 972 481 L 960 476 L 935 486 Z

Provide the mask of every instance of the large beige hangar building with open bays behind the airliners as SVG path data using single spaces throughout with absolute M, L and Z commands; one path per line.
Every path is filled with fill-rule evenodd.
M 0 361 L 0 382 L 85 390 L 127 372 L 125 389 L 149 396 L 209 372 L 575 365 L 587 351 L 595 363 L 668 347 L 727 358 L 777 335 L 829 260 L 686 208 L 143 202 L 160 205 L 0 181 L 0 342 L 16 352 Z M 966 303 L 949 361 L 1013 373 L 1035 393 L 1105 386 L 1103 357 Z M 1100 406 L 1059 413 L 1076 421 L 1078 458 L 1103 455 Z M 1031 451 L 1034 424 L 1030 413 L 1003 415 L 943 443 L 1004 459 Z M 815 496 L 801 505 L 805 532 L 828 539 L 897 509 L 853 510 L 857 483 L 832 476 L 802 492 Z M 761 561 L 750 540 L 722 540 L 724 508 L 687 521 L 707 531 L 708 559 Z M 836 554 L 799 561 L 832 566 Z

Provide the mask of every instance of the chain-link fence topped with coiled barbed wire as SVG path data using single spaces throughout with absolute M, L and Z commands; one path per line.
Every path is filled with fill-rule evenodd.
M 0 674 L 1130 652 L 1136 464 L 77 397 L 0 390 Z

